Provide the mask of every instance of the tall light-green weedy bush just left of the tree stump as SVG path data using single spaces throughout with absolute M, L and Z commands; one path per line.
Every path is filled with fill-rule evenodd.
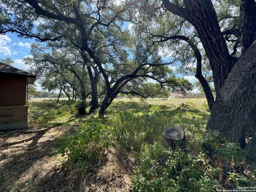
M 169 111 L 168 111 L 169 112 Z M 173 114 L 172 114 L 173 115 Z M 163 140 L 163 127 L 173 124 L 169 113 L 119 112 L 109 119 L 108 125 L 113 127 L 115 146 L 121 153 L 140 153 L 143 143 L 153 144 Z

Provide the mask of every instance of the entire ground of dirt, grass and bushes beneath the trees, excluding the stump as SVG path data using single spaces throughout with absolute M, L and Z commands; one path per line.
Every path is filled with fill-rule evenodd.
M 206 99 L 119 99 L 104 118 L 77 101 L 31 101 L 30 128 L 1 132 L 3 191 L 216 191 L 255 186 L 255 164 L 205 130 Z M 185 128 L 187 153 L 165 127 Z

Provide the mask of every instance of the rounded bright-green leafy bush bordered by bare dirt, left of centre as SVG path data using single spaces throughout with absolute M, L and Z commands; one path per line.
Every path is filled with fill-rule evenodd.
M 111 143 L 109 126 L 98 122 L 84 123 L 73 134 L 67 134 L 59 140 L 58 152 L 78 167 L 89 167 L 98 161 Z

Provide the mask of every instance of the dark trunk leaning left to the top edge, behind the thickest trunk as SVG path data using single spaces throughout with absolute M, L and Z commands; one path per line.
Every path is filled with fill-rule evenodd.
M 221 34 L 211 0 L 184 0 L 192 25 L 196 28 L 210 61 L 217 98 L 233 67 L 226 41 Z

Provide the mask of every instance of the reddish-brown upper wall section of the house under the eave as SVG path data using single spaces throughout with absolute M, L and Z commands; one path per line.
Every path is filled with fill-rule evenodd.
M 26 77 L 0 77 L 0 106 L 26 105 Z

